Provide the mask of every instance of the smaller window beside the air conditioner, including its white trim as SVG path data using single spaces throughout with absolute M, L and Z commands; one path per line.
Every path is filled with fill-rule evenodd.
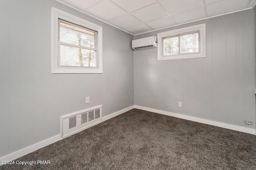
M 158 60 L 206 57 L 205 24 L 158 33 Z

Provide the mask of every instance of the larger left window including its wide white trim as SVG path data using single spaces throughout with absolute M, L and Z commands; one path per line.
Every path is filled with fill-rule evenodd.
M 102 27 L 52 8 L 52 73 L 102 73 Z

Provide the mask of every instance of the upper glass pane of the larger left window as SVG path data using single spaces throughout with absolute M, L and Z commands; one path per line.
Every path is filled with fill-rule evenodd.
M 60 41 L 64 43 L 94 47 L 94 32 L 60 22 Z

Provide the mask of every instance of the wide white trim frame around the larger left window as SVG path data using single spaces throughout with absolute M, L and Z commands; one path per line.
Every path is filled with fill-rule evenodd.
M 61 67 L 58 66 L 58 55 L 60 53 L 58 45 L 58 19 L 69 21 L 77 25 L 81 25 L 88 29 L 98 32 L 98 54 L 97 54 L 97 67 Z M 96 25 L 92 22 L 86 21 L 82 18 L 68 14 L 62 10 L 52 7 L 52 54 L 51 54 L 51 67 L 52 73 L 102 73 L 102 26 Z

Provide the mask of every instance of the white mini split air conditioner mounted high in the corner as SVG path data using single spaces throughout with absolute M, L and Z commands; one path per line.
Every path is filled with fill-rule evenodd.
M 134 50 L 152 49 L 156 47 L 157 47 L 156 36 L 132 40 L 132 49 Z

